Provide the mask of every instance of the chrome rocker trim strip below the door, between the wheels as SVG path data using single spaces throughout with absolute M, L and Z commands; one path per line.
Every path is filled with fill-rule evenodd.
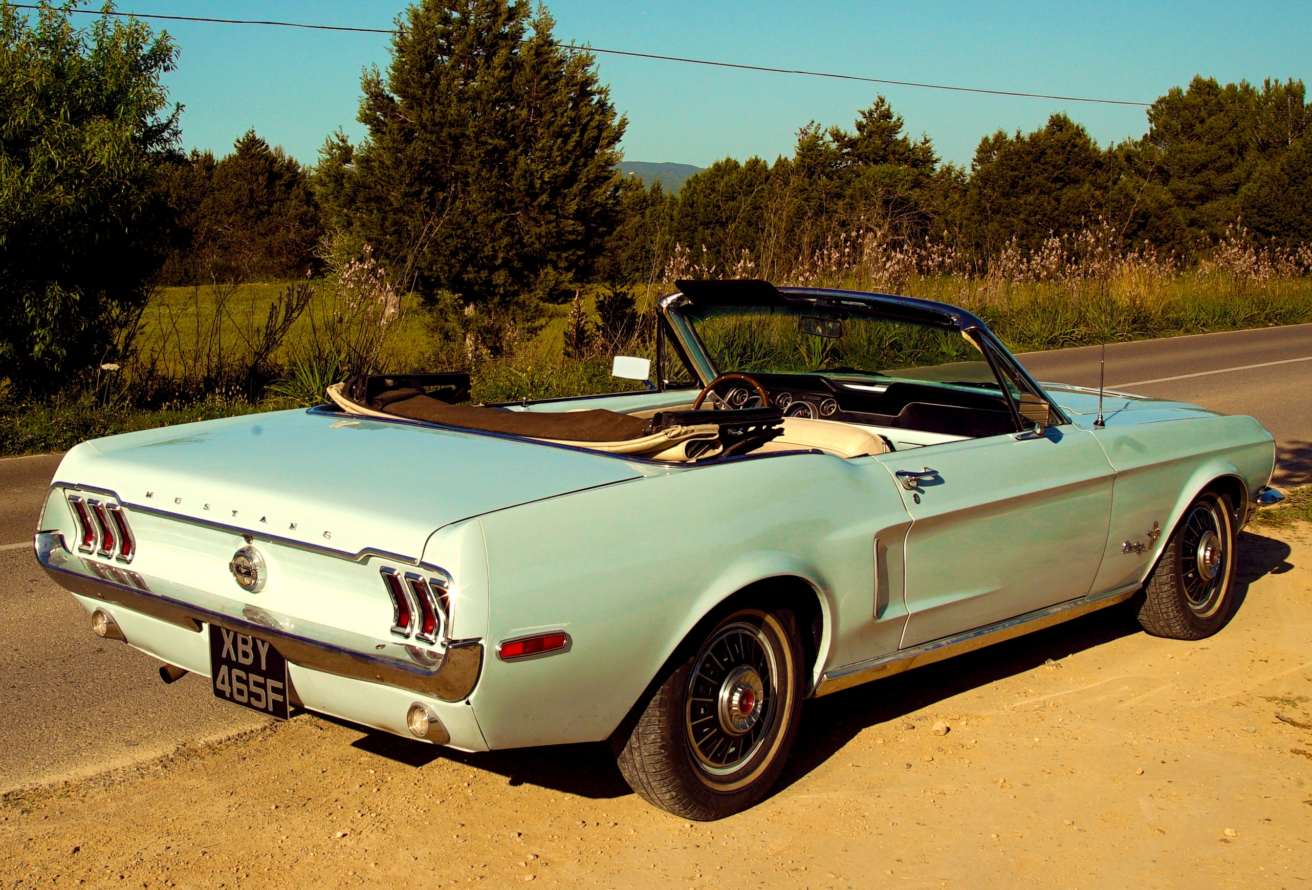
M 816 684 L 815 692 L 811 694 L 816 697 L 828 696 L 830 692 L 849 689 L 851 687 L 861 685 L 862 683 L 870 683 L 871 680 L 882 680 L 883 677 L 891 677 L 895 673 L 901 673 L 903 671 L 909 671 L 924 664 L 941 662 L 945 658 L 964 655 L 966 652 L 972 652 L 976 648 L 984 648 L 985 646 L 992 646 L 993 643 L 1001 643 L 1006 639 L 1023 637 L 1025 634 L 1034 633 L 1035 630 L 1043 630 L 1044 627 L 1059 625 L 1063 621 L 1071 621 L 1072 618 L 1078 618 L 1080 616 L 1090 612 L 1105 609 L 1109 605 L 1124 603 L 1134 596 L 1135 591 L 1140 587 L 1141 584 L 1135 584 L 1128 589 L 1103 593 L 1097 599 L 1081 597 L 1078 600 L 1059 603 L 1056 605 L 1050 605 L 1046 609 L 1038 609 L 1036 612 L 1017 616 L 1015 618 L 1008 618 L 1006 621 L 985 625 L 984 627 L 967 630 L 963 634 L 943 637 L 942 639 L 934 639 L 897 652 L 880 655 L 879 658 L 872 658 L 867 662 L 857 662 L 855 664 L 848 664 L 846 667 L 833 668 L 832 671 L 827 671 L 824 676 L 820 677 L 820 683 Z

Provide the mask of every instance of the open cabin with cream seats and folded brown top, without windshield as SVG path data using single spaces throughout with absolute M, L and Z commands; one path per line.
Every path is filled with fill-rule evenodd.
M 468 396 L 466 374 L 362 375 L 328 392 L 346 413 L 676 462 L 795 450 L 855 458 L 1014 431 L 997 391 L 820 374 L 723 377 L 705 391 L 687 390 L 685 404 L 631 412 L 589 408 L 588 399 L 558 402 L 547 411 L 459 404 Z M 642 403 L 642 396 L 630 398 Z

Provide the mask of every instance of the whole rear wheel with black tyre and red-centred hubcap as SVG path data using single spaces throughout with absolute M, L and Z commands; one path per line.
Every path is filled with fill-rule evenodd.
M 619 750 L 619 772 L 649 803 L 723 819 L 760 802 L 792 750 L 806 664 L 790 609 L 735 609 L 693 641 Z

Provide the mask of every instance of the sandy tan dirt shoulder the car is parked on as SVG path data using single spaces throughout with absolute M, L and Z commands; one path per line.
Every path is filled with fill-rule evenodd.
M 653 810 L 600 746 L 461 755 L 303 714 L 0 798 L 0 876 L 7 887 L 1304 886 L 1312 526 L 1241 543 L 1244 603 L 1216 637 L 1156 639 L 1114 608 L 811 701 L 777 793 L 723 822 Z M 950 732 L 932 735 L 941 719 Z

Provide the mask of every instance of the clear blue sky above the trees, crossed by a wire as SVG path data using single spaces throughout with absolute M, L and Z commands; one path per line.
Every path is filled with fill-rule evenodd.
M 118 0 L 142 13 L 281 18 L 388 28 L 405 4 L 341 0 Z M 597 47 L 917 80 L 1152 101 L 1195 74 L 1221 81 L 1312 80 L 1304 3 L 663 3 L 555 0 L 556 35 Z M 155 28 L 164 28 L 160 22 Z M 186 147 L 231 150 L 249 127 L 314 161 L 324 137 L 353 139 L 359 72 L 386 71 L 388 38 L 168 22 L 181 55 L 169 75 L 186 106 Z M 875 87 L 598 56 L 628 117 L 628 160 L 705 167 L 727 155 L 789 154 L 811 119 L 850 126 L 883 92 L 913 134 L 968 163 L 980 137 L 1033 130 L 1056 110 L 1099 144 L 1144 133 L 1143 109 Z

